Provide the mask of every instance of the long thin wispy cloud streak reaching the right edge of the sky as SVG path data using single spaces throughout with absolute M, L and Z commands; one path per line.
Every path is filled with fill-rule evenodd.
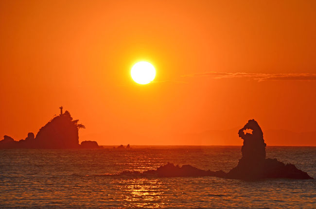
M 181 77 L 211 77 L 213 79 L 222 78 L 248 78 L 257 81 L 267 80 L 304 80 L 316 81 L 315 73 L 283 73 L 283 74 L 268 74 L 268 73 L 247 73 L 247 72 L 201 72 L 194 74 L 182 75 Z

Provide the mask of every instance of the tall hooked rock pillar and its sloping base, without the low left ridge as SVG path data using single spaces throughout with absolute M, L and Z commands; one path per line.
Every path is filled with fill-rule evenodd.
M 249 133 L 250 132 L 250 133 Z M 243 157 L 238 165 L 231 169 L 227 178 L 231 179 L 261 179 L 261 178 L 295 178 L 311 179 L 293 164 L 284 164 L 277 159 L 265 158 L 265 146 L 263 132 L 255 120 L 249 120 L 239 130 L 239 137 L 244 139 L 242 146 Z

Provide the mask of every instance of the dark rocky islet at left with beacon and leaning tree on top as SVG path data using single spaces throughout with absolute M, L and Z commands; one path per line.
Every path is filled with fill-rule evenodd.
M 79 129 L 86 128 L 79 124 L 79 120 L 72 120 L 70 113 L 66 110 L 63 113 L 63 106 L 60 114 L 41 127 L 36 136 L 28 133 L 25 139 L 19 141 L 5 135 L 0 140 L 0 149 L 94 149 L 100 148 L 96 141 L 82 141 L 79 144 Z

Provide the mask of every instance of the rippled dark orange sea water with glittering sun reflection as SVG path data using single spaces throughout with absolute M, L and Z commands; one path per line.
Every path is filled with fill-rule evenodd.
M 266 152 L 316 178 L 316 147 Z M 0 150 L 0 208 L 316 208 L 315 179 L 109 175 L 167 162 L 228 172 L 239 158 L 239 146 Z

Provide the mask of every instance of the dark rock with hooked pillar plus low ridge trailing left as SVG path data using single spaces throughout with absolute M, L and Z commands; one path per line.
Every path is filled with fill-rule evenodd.
M 259 124 L 249 120 L 239 130 L 239 137 L 244 139 L 242 146 L 242 158 L 238 165 L 228 173 L 224 171 L 204 171 L 191 165 L 179 167 L 172 163 L 160 166 L 157 170 L 148 170 L 142 173 L 123 172 L 121 174 L 141 174 L 144 176 L 155 175 L 158 177 L 183 177 L 183 176 L 216 176 L 229 179 L 257 180 L 264 178 L 292 178 L 292 179 L 313 179 L 306 172 L 296 168 L 293 164 L 284 164 L 277 159 L 265 158 L 265 147 L 263 132 Z

